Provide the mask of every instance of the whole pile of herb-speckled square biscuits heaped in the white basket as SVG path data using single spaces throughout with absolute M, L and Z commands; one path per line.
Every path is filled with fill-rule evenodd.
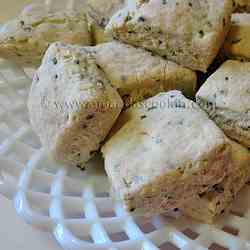
M 28 108 L 44 148 L 81 169 L 101 151 L 127 211 L 213 223 L 249 182 L 248 0 L 31 5 L 0 56 L 40 65 Z

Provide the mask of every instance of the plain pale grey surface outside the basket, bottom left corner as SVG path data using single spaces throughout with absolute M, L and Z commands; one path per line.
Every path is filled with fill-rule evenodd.
M 11 201 L 0 195 L 1 250 L 61 250 L 47 233 L 35 230 L 19 218 Z

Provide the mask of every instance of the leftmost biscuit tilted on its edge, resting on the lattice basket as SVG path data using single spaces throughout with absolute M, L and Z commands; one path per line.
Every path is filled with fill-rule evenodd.
M 55 43 L 34 76 L 28 108 L 43 146 L 61 163 L 82 166 L 123 108 L 90 48 Z

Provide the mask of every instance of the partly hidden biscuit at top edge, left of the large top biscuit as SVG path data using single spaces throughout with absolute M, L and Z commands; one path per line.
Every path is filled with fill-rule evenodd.
M 86 9 L 94 44 L 113 40 L 105 34 L 105 27 L 112 15 L 124 5 L 125 0 L 86 0 Z

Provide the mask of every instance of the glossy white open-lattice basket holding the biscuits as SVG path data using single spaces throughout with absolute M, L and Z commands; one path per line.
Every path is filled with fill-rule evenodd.
M 74 8 L 82 1 L 46 4 Z M 51 232 L 69 250 L 250 249 L 250 187 L 216 225 L 178 213 L 146 220 L 131 217 L 111 199 L 101 157 L 86 172 L 52 163 L 29 125 L 31 75 L 30 69 L 0 60 L 0 192 L 13 199 L 27 223 Z

